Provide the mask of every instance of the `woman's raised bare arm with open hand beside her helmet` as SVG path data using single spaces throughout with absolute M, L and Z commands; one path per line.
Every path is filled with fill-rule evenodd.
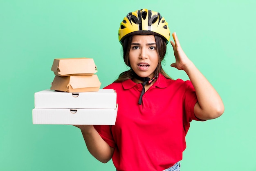
M 174 42 L 171 41 L 171 45 L 173 46 L 176 62 L 171 64 L 171 67 L 184 70 L 189 76 L 198 98 L 194 107 L 196 117 L 203 120 L 218 118 L 224 112 L 224 104 L 220 95 L 186 56 L 176 33 L 173 33 L 173 39 Z

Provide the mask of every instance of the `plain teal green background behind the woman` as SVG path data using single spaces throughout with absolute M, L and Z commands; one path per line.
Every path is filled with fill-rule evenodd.
M 115 170 L 76 127 L 33 125 L 34 93 L 50 88 L 54 58 L 94 58 L 101 88 L 113 82 L 127 69 L 119 23 L 142 8 L 165 17 L 225 104 L 220 118 L 191 122 L 182 171 L 256 171 L 255 0 L 0 0 L 0 170 Z M 172 78 L 188 79 L 170 67 L 171 44 L 165 59 Z

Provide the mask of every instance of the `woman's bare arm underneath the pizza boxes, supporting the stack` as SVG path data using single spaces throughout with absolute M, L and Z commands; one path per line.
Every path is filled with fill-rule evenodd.
M 114 148 L 110 147 L 108 143 L 101 138 L 93 125 L 74 126 L 81 129 L 88 151 L 94 158 L 103 163 L 108 162 L 112 158 Z

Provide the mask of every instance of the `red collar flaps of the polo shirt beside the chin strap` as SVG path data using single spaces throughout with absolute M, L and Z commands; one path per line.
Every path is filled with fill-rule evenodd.
M 135 85 L 137 85 L 137 83 L 133 82 L 132 79 L 129 79 L 129 80 L 123 81 L 122 85 L 124 89 L 130 89 Z M 152 86 L 159 87 L 159 88 L 166 88 L 167 87 L 166 78 L 161 73 L 159 73 L 156 82 Z

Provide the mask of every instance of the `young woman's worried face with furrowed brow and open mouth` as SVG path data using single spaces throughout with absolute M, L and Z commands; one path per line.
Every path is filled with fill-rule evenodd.
M 130 66 L 140 77 L 154 77 L 158 55 L 153 35 L 134 35 L 129 52 Z

